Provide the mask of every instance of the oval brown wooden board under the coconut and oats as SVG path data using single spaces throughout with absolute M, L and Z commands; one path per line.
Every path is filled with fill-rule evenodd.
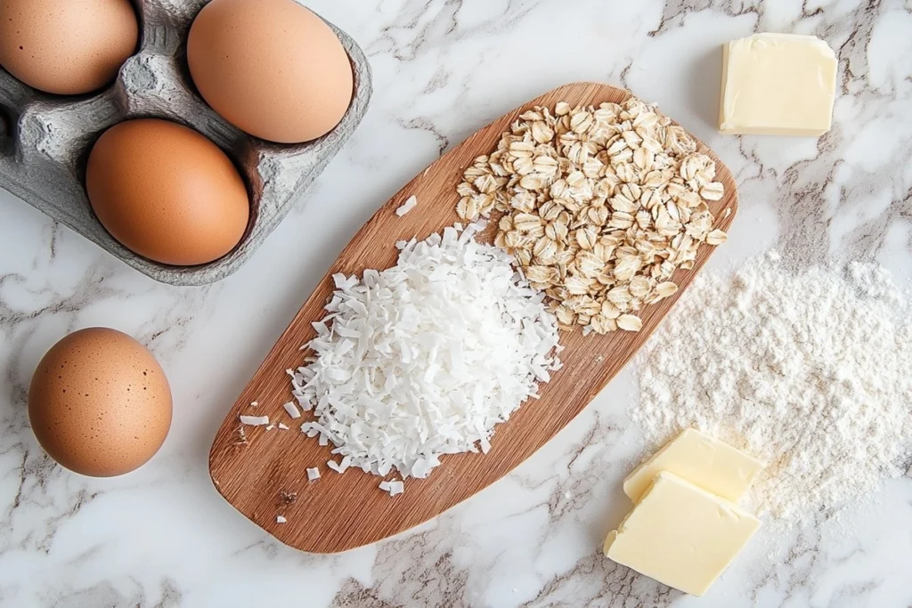
M 526 108 L 554 108 L 562 100 L 571 105 L 597 105 L 629 96 L 626 90 L 596 83 L 556 88 L 466 139 L 388 201 L 348 243 L 225 418 L 209 457 L 212 481 L 225 500 L 287 545 L 319 553 L 346 551 L 408 530 L 468 499 L 529 458 L 586 407 L 656 329 L 677 297 L 648 306 L 643 313 L 643 329 L 637 334 L 564 334 L 564 369 L 542 388 L 541 399 L 527 402 L 497 427 L 488 454 L 445 456 L 428 479 L 407 479 L 405 493 L 395 498 L 378 489 L 378 477 L 360 469 L 338 475 L 326 468 L 329 448 L 319 447 L 316 438 L 306 438 L 299 431 L 305 418 L 293 421 L 285 413 L 283 404 L 291 400 L 285 370 L 302 364 L 300 347 L 314 335 L 311 323 L 324 316 L 323 306 L 333 291 L 331 275 L 388 268 L 396 263 L 395 242 L 413 236 L 424 239 L 457 222 L 455 188 L 462 171 L 479 155 L 496 149 L 503 131 Z M 724 230 L 738 204 L 735 183 L 721 161 L 703 148 L 716 160 L 717 179 L 725 185 L 725 198 L 710 205 Z M 417 208 L 399 218 L 395 210 L 412 195 L 418 198 Z M 731 213 L 726 215 L 726 210 Z M 674 280 L 681 287 L 678 295 L 713 250 L 700 247 L 696 267 L 675 274 Z M 258 407 L 250 407 L 253 401 Z M 271 422 L 285 422 L 291 430 L 244 427 L 244 443 L 238 418 L 241 414 L 267 415 Z M 308 482 L 305 469 L 316 466 L 323 477 Z M 287 522 L 276 523 L 278 515 Z

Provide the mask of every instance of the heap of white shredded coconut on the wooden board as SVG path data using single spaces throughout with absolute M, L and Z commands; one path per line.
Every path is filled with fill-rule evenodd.
M 343 462 L 424 478 L 443 454 L 487 452 L 494 426 L 559 368 L 544 294 L 506 252 L 474 241 L 482 227 L 400 242 L 396 266 L 334 277 L 292 385 L 316 415 L 301 430 Z

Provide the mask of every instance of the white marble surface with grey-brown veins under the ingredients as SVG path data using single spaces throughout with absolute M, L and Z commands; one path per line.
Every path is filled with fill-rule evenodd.
M 286 548 L 216 492 L 223 413 L 370 214 L 488 120 L 565 82 L 631 88 L 717 150 L 741 186 L 720 267 L 771 247 L 800 262 L 877 260 L 912 276 L 912 2 L 310 0 L 365 47 L 376 94 L 358 133 L 244 269 L 153 283 L 0 192 L 0 605 L 912 605 L 912 472 L 839 522 L 762 531 L 700 600 L 599 553 L 647 448 L 621 374 L 532 459 L 397 539 L 337 556 Z M 719 46 L 811 33 L 839 55 L 833 131 L 714 132 Z M 37 447 L 26 387 L 67 332 L 109 325 L 161 360 L 174 424 L 146 467 L 87 479 Z M 496 438 L 495 438 L 496 440 Z

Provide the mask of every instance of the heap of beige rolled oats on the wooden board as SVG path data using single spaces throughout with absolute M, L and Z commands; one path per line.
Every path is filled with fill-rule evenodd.
M 502 213 L 494 243 L 544 291 L 557 322 L 584 334 L 637 332 L 637 314 L 678 292 L 678 268 L 718 245 L 707 201 L 725 194 L 716 165 L 640 99 L 532 108 L 497 150 L 465 170 L 456 211 Z

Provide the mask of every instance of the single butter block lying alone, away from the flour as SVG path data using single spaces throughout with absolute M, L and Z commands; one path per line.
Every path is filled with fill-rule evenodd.
M 830 130 L 836 56 L 817 36 L 754 34 L 722 46 L 719 130 L 819 136 Z

